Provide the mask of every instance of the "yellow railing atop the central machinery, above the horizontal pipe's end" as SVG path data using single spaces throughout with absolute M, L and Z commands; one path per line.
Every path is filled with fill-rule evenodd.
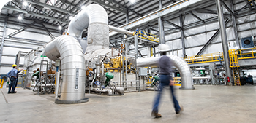
M 159 43 L 159 36 L 147 33 L 146 31 L 135 31 L 133 35 L 137 35 L 139 38 L 147 39 Z

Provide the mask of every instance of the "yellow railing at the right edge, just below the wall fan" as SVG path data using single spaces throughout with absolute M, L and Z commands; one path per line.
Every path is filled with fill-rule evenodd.
M 238 60 L 256 58 L 256 48 L 238 49 Z

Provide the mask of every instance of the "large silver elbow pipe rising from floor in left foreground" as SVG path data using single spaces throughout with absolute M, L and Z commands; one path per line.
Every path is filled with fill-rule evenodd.
M 55 103 L 83 103 L 85 98 L 86 66 L 83 49 L 72 36 L 59 36 L 45 47 L 50 60 L 61 59 L 62 84 L 60 98 Z

